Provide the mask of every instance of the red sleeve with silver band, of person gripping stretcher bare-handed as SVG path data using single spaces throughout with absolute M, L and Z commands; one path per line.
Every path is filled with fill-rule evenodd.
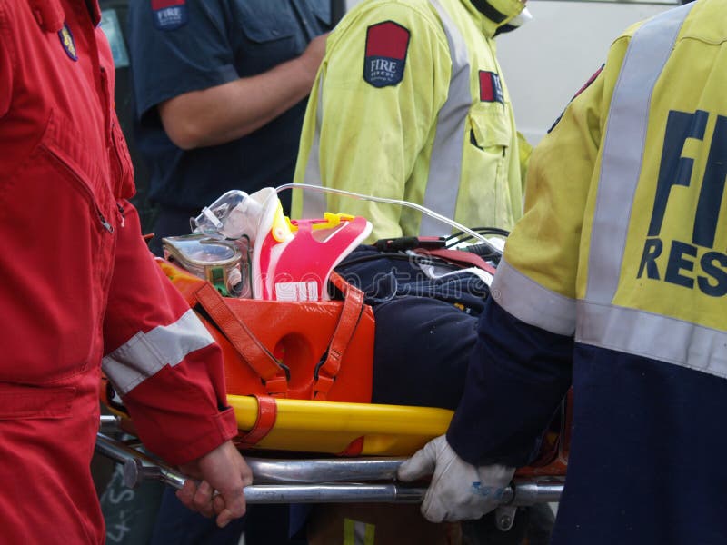
M 167 280 L 124 202 L 104 322 L 104 371 L 144 445 L 174 464 L 237 433 L 226 407 L 222 352 Z

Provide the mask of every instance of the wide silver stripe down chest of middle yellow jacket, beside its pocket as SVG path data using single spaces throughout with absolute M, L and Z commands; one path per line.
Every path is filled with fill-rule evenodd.
M 464 146 L 464 124 L 472 107 L 470 93 L 470 61 L 467 45 L 462 34 L 454 25 L 442 5 L 430 0 L 442 20 L 447 35 L 449 54 L 452 59 L 447 100 L 437 114 L 437 129 L 429 162 L 429 177 L 424 192 L 424 207 L 454 219 L 457 208 L 460 178 L 462 177 L 462 154 Z M 434 218 L 423 215 L 419 226 L 422 236 L 446 236 L 452 228 Z

